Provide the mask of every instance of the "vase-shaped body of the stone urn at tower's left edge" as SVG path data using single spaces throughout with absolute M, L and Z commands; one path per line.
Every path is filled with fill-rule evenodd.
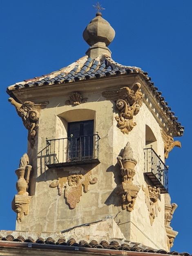
M 27 182 L 24 178 L 25 175 L 25 167 L 20 167 L 16 170 L 16 175 L 18 177 L 18 181 L 16 182 L 16 189 L 18 191 L 18 195 L 29 195 L 27 192 Z

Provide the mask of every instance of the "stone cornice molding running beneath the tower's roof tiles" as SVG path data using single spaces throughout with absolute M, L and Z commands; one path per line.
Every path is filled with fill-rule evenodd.
M 183 135 L 183 126 L 178 123 L 177 117 L 167 107 L 167 103 L 161 97 L 161 92 L 157 92 L 156 88 L 145 81 L 141 73 L 129 73 L 116 76 L 103 76 L 100 79 L 88 79 L 74 81 L 72 83 L 60 83 L 54 85 L 34 86 L 29 88 L 18 88 L 17 90 L 8 90 L 8 94 L 19 102 L 23 101 L 43 101 L 47 98 L 60 97 L 72 94 L 76 91 L 78 85 L 79 93 L 85 92 L 103 92 L 105 90 L 119 90 L 124 86 L 130 89 L 135 83 L 141 83 L 141 92 L 143 94 L 143 103 L 150 109 L 152 115 L 159 123 L 161 128 L 172 137 Z M 91 83 L 91 86 L 90 86 Z M 46 91 L 46 98 L 45 98 Z

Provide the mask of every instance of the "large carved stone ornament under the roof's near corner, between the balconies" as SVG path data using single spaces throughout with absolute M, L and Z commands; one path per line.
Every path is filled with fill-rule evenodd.
M 123 134 L 128 134 L 136 126 L 133 116 L 138 114 L 143 104 L 143 94 L 139 91 L 140 87 L 141 84 L 136 83 L 132 89 L 123 87 L 118 91 L 108 91 L 102 94 L 103 97 L 116 102 L 120 115 L 117 115 L 115 119 Z

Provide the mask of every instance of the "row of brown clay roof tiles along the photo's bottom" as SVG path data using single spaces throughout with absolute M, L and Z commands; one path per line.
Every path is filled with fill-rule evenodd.
M 22 236 L 18 236 L 17 238 L 12 235 L 8 235 L 7 237 L 0 236 L 0 241 L 9 241 L 9 242 L 18 242 L 18 243 L 32 243 L 32 244 L 43 244 L 43 245 L 65 245 L 70 247 L 87 247 L 87 248 L 100 248 L 100 249 L 110 249 L 110 250 L 121 250 L 121 251 L 132 251 L 132 252 L 151 252 L 151 253 L 159 253 L 159 254 L 172 254 L 172 255 L 182 255 L 182 256 L 190 256 L 189 253 L 183 252 L 167 252 L 163 249 L 152 249 L 150 247 L 146 247 L 139 243 L 132 243 L 130 241 L 124 241 L 123 244 L 118 243 L 116 240 L 112 240 L 110 243 L 106 240 L 102 240 L 98 243 L 96 240 L 92 240 L 90 243 L 87 243 L 85 240 L 80 240 L 77 242 L 74 238 L 70 238 L 69 240 L 65 240 L 65 237 L 60 237 L 57 241 L 53 238 L 48 237 L 47 239 L 38 238 L 34 240 L 32 237 L 28 237 L 25 239 Z M 16 247 L 17 245 L 15 245 Z M 59 247 L 58 247 L 59 249 Z

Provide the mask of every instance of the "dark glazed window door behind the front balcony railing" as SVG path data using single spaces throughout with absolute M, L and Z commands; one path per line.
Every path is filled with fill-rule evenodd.
M 68 162 L 93 158 L 94 120 L 68 123 L 67 137 Z

